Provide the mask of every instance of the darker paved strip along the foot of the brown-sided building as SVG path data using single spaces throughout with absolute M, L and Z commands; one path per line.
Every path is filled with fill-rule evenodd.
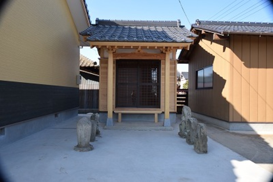
M 271 134 L 231 132 L 204 121 L 199 122 L 206 124 L 211 139 L 273 173 L 273 131 Z

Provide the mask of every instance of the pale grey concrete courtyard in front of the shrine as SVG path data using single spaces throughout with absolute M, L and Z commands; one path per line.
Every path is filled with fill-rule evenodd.
M 209 137 L 207 154 L 195 153 L 193 146 L 177 135 L 179 122 L 173 124 L 171 131 L 103 130 L 101 125 L 101 137 L 91 143 L 94 150 L 76 152 L 73 147 L 77 144 L 76 122 L 80 117 L 0 147 L 5 176 L 10 181 L 30 182 L 269 181 L 272 178 L 268 170 L 234 152 L 236 147 L 232 148 L 232 143 L 240 142 L 229 139 L 247 141 L 249 136 L 236 137 L 237 134 L 209 125 L 208 136 L 222 144 Z M 261 140 L 251 142 L 256 141 Z M 224 145 L 231 145 L 231 149 Z

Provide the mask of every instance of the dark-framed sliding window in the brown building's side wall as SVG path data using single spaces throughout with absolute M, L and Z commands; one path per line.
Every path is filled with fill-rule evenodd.
M 196 71 L 196 88 L 212 88 L 213 68 L 208 66 Z

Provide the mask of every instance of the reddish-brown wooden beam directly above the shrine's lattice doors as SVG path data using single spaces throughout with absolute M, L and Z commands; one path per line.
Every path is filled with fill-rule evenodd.
M 152 53 L 113 53 L 113 59 L 159 59 L 165 60 L 165 54 Z

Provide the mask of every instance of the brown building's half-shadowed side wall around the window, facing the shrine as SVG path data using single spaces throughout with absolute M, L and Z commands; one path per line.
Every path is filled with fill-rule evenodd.
M 189 107 L 193 112 L 229 120 L 229 41 L 212 41 L 206 35 L 189 61 Z M 213 89 L 195 89 L 196 71 L 213 64 Z

